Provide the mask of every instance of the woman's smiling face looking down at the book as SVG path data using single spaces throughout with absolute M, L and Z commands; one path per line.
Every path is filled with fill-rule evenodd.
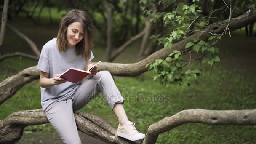
M 76 45 L 85 35 L 83 26 L 80 22 L 73 22 L 67 27 L 68 46 Z

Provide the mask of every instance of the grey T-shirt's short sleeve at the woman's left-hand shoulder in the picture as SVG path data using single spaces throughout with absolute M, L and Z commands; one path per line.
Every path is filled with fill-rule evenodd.
M 37 69 L 43 72 L 50 72 L 49 69 L 49 51 L 47 51 L 48 48 L 43 47 L 41 51 L 41 55 L 37 64 Z

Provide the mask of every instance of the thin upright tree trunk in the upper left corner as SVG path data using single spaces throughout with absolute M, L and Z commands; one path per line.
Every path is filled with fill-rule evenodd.
M 1 32 L 0 32 L 0 47 L 2 46 L 4 37 L 5 37 L 5 27 L 6 27 L 6 22 L 7 22 L 8 3 L 9 3 L 9 0 L 5 0 L 5 2 L 3 4 L 3 14 L 2 14 Z

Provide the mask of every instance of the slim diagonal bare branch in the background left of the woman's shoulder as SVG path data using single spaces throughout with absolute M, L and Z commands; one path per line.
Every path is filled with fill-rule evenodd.
M 36 54 L 36 56 L 39 58 L 40 57 L 40 51 L 37 48 L 37 45 L 29 39 L 29 37 L 27 37 L 26 35 L 24 35 L 22 32 L 20 32 L 18 29 L 7 25 L 8 28 L 10 28 L 13 32 L 15 32 L 17 35 L 19 35 L 21 38 L 23 38 L 24 40 L 26 40 L 26 42 L 29 44 L 30 48 L 32 48 L 32 51 L 34 51 L 34 53 Z

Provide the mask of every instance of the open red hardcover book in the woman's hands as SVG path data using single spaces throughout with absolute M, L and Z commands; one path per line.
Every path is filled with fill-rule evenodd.
M 87 77 L 91 74 L 91 70 L 94 69 L 101 61 L 99 61 L 97 64 L 93 65 L 90 69 L 87 71 L 81 70 L 81 69 L 75 69 L 71 67 L 66 72 L 62 73 L 59 77 L 65 78 L 67 81 L 72 83 L 77 83 L 83 78 Z

